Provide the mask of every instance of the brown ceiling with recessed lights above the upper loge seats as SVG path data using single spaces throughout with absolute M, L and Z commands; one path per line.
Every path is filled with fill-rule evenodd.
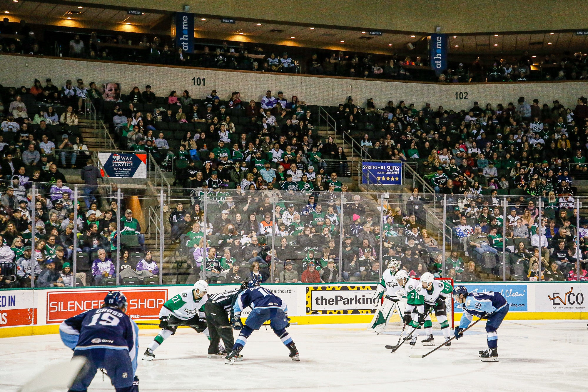
M 132 2 L 133 0 L 128 1 L 131 4 Z M 148 1 L 143 7 L 158 5 L 157 3 Z M 32 23 L 39 23 L 39 16 L 42 16 L 41 22 L 60 26 L 169 34 L 173 12 L 137 8 L 141 15 L 128 15 L 128 9 L 128 6 L 120 5 L 97 6 L 87 1 L 0 0 L 0 11 L 8 11 L 5 16 L 13 20 L 24 18 Z M 198 10 L 191 8 L 190 11 Z M 317 16 L 316 20 L 320 21 L 320 18 Z M 341 22 L 348 23 L 346 19 L 341 19 Z M 198 38 L 377 53 L 410 52 L 407 49 L 409 43 L 416 46 L 418 52 L 423 52 L 426 48 L 427 32 L 379 30 L 381 35 L 369 34 L 375 30 L 370 26 L 342 28 L 318 22 L 300 24 L 291 21 L 272 22 L 262 18 L 235 18 L 235 24 L 226 24 L 220 21 L 219 16 L 195 14 L 195 35 Z M 575 31 L 455 33 L 455 36 L 450 35 L 449 49 L 454 54 L 516 55 L 529 51 L 530 55 L 540 56 L 565 51 L 587 51 L 588 41 L 586 35 L 577 35 Z

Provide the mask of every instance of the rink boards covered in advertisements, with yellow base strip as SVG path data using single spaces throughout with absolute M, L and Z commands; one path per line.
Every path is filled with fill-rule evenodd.
M 468 290 L 497 291 L 509 301 L 506 320 L 588 318 L 588 283 L 513 282 L 463 283 Z M 238 285 L 211 285 L 209 293 L 222 293 Z M 288 305 L 288 317 L 298 324 L 369 323 L 378 301 L 375 284 L 268 284 L 264 288 Z M 57 333 L 65 318 L 102 305 L 114 287 L 35 288 L 0 290 L 0 337 Z M 116 290 L 116 288 L 114 288 Z M 166 300 L 191 285 L 121 287 L 133 320 L 156 324 Z M 462 310 L 455 308 L 458 322 Z M 246 317 L 249 309 L 242 315 Z M 149 327 L 147 327 L 149 328 Z

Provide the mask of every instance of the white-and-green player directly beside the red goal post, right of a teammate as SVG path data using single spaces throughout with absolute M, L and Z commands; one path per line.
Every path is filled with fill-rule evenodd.
M 420 285 L 423 290 L 423 311 L 425 314 L 425 334 L 430 343 L 433 344 L 433 324 L 431 323 L 431 308 L 435 311 L 437 321 L 441 324 L 441 331 L 445 341 L 449 340 L 449 323 L 447 322 L 447 308 L 445 307 L 445 300 L 449 295 L 452 295 L 453 287 L 450 283 L 445 281 L 435 280 L 432 273 L 424 273 L 420 277 Z M 423 340 L 423 342 L 425 341 Z M 451 343 L 445 344 L 447 348 Z

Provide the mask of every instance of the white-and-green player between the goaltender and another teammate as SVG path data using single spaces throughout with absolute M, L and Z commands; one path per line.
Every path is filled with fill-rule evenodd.
M 396 291 L 396 297 L 406 297 L 406 310 L 403 314 L 403 320 L 406 325 L 412 328 L 418 328 L 425 324 L 425 309 L 424 309 L 424 289 L 421 287 L 419 281 L 410 278 L 405 270 L 398 271 L 394 278 L 399 285 L 399 290 Z M 430 322 L 430 321 L 429 321 Z M 423 340 L 423 346 L 432 346 L 432 336 L 430 340 Z M 405 338 L 407 340 L 408 337 Z M 415 346 L 416 335 L 410 337 L 410 346 Z

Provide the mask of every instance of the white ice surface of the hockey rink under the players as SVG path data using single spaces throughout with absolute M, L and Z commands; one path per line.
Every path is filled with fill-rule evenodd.
M 208 340 L 188 328 L 166 340 L 155 360 L 139 360 L 141 391 L 585 391 L 588 380 L 586 321 L 504 321 L 499 363 L 483 363 L 487 347 L 482 322 L 452 348 L 419 343 L 390 353 L 398 332 L 375 335 L 365 325 L 292 325 L 300 362 L 271 330 L 256 331 L 242 351 L 243 361 L 227 365 L 207 359 Z M 140 354 L 158 330 L 141 330 Z M 453 333 L 453 331 L 452 331 Z M 443 337 L 435 331 L 436 344 Z M 0 391 L 16 391 L 43 368 L 67 360 L 72 351 L 59 335 L 0 339 Z M 424 389 L 427 388 L 427 389 Z M 113 391 L 98 375 L 89 391 Z

